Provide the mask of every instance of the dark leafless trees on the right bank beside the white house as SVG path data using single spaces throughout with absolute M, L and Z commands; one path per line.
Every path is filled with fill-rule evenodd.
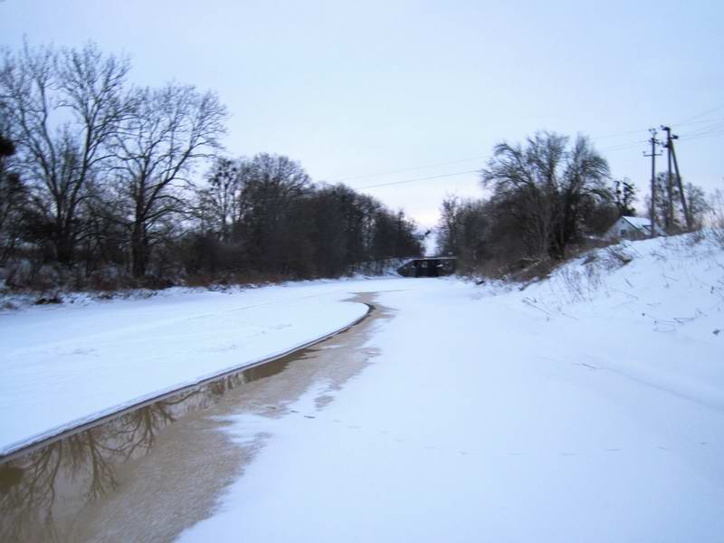
M 667 175 L 657 179 L 656 223 L 667 233 L 684 230 L 680 198 L 667 213 Z M 622 215 L 633 215 L 636 188 L 628 179 L 612 181 L 605 158 L 590 140 L 538 132 L 523 144 L 500 143 L 481 170 L 490 196 L 443 201 L 438 249 L 456 255 L 459 269 L 489 276 L 545 271 L 600 236 Z M 685 185 L 693 219 L 700 227 L 707 203 L 700 188 Z M 649 207 L 644 216 L 650 216 Z

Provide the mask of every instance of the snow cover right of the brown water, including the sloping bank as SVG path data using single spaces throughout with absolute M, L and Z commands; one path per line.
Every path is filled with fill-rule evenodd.
M 724 253 L 689 240 L 395 281 L 371 366 L 232 419 L 266 445 L 181 539 L 722 541 Z

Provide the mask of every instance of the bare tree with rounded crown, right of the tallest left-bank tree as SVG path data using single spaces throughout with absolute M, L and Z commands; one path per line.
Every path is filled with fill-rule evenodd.
M 186 207 L 189 174 L 221 147 L 226 110 L 213 92 L 169 83 L 139 89 L 113 138 L 119 194 L 129 206 L 131 271 L 143 276 L 160 227 Z

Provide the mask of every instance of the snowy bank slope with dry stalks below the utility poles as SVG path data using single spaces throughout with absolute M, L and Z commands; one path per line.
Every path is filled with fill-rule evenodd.
M 724 251 L 710 236 L 601 249 L 521 294 L 557 357 L 573 348 L 571 362 L 724 409 Z

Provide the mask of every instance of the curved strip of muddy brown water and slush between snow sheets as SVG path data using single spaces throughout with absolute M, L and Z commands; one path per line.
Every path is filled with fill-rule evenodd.
M 353 301 L 374 303 L 374 294 Z M 310 386 L 344 385 L 370 364 L 367 319 L 310 348 L 221 376 L 0 463 L 0 541 L 170 541 L 211 516 L 270 438 L 234 443 L 233 414 L 281 417 Z M 319 392 L 323 408 L 330 395 Z M 226 421 L 224 421 L 224 418 Z

